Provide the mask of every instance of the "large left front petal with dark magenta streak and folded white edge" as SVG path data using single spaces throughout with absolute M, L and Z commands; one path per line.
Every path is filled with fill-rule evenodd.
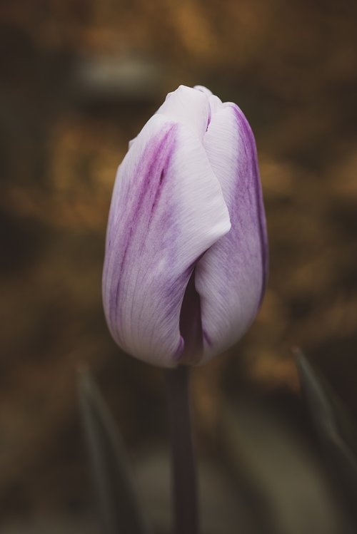
M 119 167 L 109 213 L 104 311 L 120 346 L 153 364 L 177 363 L 193 266 L 230 227 L 200 140 L 154 115 Z

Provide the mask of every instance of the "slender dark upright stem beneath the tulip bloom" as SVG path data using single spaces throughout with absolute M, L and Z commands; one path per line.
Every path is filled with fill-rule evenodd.
M 166 370 L 174 479 L 174 534 L 198 534 L 188 371 L 188 366 L 183 365 Z

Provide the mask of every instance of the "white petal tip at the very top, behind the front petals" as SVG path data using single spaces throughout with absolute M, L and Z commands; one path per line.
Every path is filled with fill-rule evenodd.
M 179 86 L 176 91 L 166 96 L 166 101 L 156 113 L 166 118 L 183 123 L 203 139 L 209 122 L 208 95 L 191 87 Z

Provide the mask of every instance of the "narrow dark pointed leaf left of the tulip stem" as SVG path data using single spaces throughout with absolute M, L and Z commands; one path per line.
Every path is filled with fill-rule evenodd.
M 79 403 L 103 533 L 148 533 L 121 436 L 88 371 L 79 375 Z

